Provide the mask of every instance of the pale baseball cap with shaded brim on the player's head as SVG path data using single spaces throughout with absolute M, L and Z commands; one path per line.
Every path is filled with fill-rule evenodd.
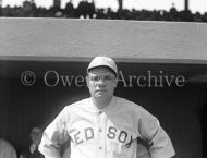
M 97 66 L 107 66 L 110 70 L 112 70 L 115 75 L 118 74 L 118 68 L 117 64 L 114 62 L 113 59 L 109 58 L 109 57 L 104 57 L 104 56 L 99 56 L 99 57 L 95 57 L 92 62 L 89 63 L 88 68 L 87 68 L 87 72 L 93 69 L 93 68 L 97 68 Z

